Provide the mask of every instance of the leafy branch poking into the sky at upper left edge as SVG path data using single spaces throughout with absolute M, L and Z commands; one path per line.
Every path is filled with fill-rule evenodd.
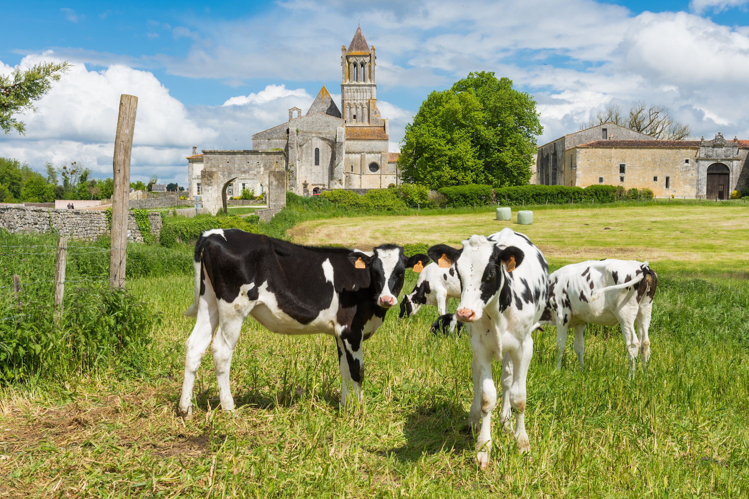
M 8 76 L 0 74 L 0 128 L 6 135 L 13 129 L 25 135 L 25 123 L 13 114 L 36 111 L 33 102 L 49 92 L 52 82 L 57 82 L 70 67 L 68 61 L 40 62 L 29 70 L 16 67 Z

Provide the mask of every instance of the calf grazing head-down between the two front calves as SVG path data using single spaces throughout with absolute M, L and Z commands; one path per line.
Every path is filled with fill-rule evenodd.
M 399 317 L 412 316 L 422 305 L 437 305 L 441 316 L 447 313 L 449 299 L 460 297 L 461 281 L 455 273 L 455 263 L 446 269 L 432 262 L 422 270 L 413 291 L 401 300 Z

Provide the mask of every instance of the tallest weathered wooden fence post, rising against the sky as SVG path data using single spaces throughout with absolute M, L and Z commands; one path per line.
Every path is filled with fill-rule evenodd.
M 112 167 L 115 189 L 112 193 L 112 243 L 109 253 L 109 287 L 124 287 L 125 257 L 127 257 L 127 209 L 130 198 L 130 152 L 133 150 L 133 130 L 136 124 L 138 97 L 122 94 L 120 114 L 115 135 L 115 154 Z

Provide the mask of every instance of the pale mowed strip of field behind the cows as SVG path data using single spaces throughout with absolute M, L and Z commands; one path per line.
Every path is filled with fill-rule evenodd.
M 749 205 L 544 208 L 534 206 L 532 225 L 497 221 L 494 211 L 466 215 L 366 216 L 307 221 L 290 233 L 300 244 L 338 243 L 370 249 L 382 242 L 446 242 L 455 247 L 472 234 L 504 227 L 525 233 L 550 263 L 621 258 L 649 260 L 682 272 L 721 272 L 748 277 Z

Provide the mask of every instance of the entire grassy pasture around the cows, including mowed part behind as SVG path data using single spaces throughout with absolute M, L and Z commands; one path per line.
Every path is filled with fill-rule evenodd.
M 466 427 L 470 342 L 433 337 L 434 307 L 406 321 L 392 310 L 365 343 L 363 414 L 338 407 L 332 338 L 279 336 L 249 319 L 232 364 L 236 414 L 216 410 L 209 349 L 195 417 L 183 423 L 173 413 L 193 324 L 181 311 L 193 284 L 168 275 L 128 284 L 163 314 L 145 373 L 112 367 L 2 388 L 0 498 L 746 497 L 748 212 L 734 209 L 539 209 L 533 226 L 510 225 L 538 242 L 554 267 L 601 251 L 595 257 L 649 258 L 659 273 L 651 361 L 632 381 L 619 328 L 589 327 L 585 370 L 571 344 L 556 370 L 554 328 L 534 333 L 532 459 L 495 424 L 490 466 L 477 470 Z M 459 245 L 507 225 L 490 217 L 336 218 L 307 222 L 294 236 Z M 682 230 L 689 236 L 676 236 Z M 650 249 L 661 254 L 650 257 Z M 415 281 L 408 272 L 404 290 Z M 497 385 L 498 370 L 495 362 Z

